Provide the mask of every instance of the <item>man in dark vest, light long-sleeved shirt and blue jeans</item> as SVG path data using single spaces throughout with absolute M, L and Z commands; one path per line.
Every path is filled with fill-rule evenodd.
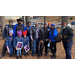
M 30 38 L 32 41 L 32 56 L 38 54 L 38 48 L 39 48 L 39 26 L 38 23 L 36 23 L 36 26 L 30 31 Z M 35 52 L 36 49 L 36 52 Z

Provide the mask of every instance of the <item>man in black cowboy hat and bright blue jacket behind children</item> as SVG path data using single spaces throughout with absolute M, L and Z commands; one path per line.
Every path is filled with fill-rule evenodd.
M 21 18 L 17 19 L 17 22 L 18 22 L 18 24 L 16 24 L 13 29 L 13 31 L 14 31 L 13 38 L 15 38 L 17 36 L 17 31 L 22 30 L 22 33 L 23 33 L 23 31 L 26 30 L 26 27 L 22 24 L 23 20 Z M 16 54 L 16 50 L 15 50 L 15 54 Z M 23 54 L 23 50 L 22 50 L 22 54 Z

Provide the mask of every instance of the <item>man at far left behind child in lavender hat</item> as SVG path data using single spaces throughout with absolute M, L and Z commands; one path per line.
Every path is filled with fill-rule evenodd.
M 13 21 L 9 20 L 9 25 L 5 26 L 4 32 L 3 32 L 4 45 L 3 45 L 1 58 L 3 58 L 5 56 L 5 53 L 6 53 L 6 50 L 7 50 L 6 44 L 5 44 L 6 43 L 6 38 L 9 35 L 9 31 L 12 30 L 13 28 L 14 28 Z

